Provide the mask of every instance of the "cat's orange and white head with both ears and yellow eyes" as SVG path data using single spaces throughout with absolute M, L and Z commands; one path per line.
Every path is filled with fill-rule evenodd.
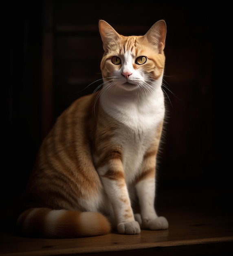
M 108 86 L 126 91 L 149 88 L 162 79 L 165 65 L 166 23 L 156 22 L 144 36 L 122 36 L 99 20 L 104 54 L 101 72 Z M 162 81 L 162 80 L 161 80 Z

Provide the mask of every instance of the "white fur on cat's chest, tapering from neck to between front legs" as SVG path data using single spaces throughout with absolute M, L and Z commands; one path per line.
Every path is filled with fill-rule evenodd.
M 112 139 L 122 146 L 125 180 L 130 184 L 140 171 L 143 156 L 164 118 L 163 92 L 157 90 L 156 94 L 137 102 L 121 101 L 117 104 L 113 99 L 104 103 L 103 109 L 120 123 Z

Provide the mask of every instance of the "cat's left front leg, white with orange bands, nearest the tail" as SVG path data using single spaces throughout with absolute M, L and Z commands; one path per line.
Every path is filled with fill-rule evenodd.
M 120 234 L 139 234 L 141 229 L 134 219 L 121 159 L 114 157 L 108 160 L 108 163 L 97 168 L 97 171 L 112 204 L 118 232 Z

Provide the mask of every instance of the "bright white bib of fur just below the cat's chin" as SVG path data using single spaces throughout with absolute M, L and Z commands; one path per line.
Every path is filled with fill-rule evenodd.
M 142 133 L 153 129 L 165 114 L 160 80 L 162 77 L 155 82 L 153 91 L 147 95 L 143 95 L 140 91 L 132 93 L 119 90 L 117 92 L 117 88 L 104 92 L 100 96 L 101 105 L 110 116 L 134 132 Z

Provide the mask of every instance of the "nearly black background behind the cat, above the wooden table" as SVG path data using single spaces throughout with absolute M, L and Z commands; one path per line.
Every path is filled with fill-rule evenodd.
M 230 146 L 231 136 L 224 118 L 221 5 L 36 0 L 9 1 L 8 10 L 11 74 L 4 147 L 8 164 L 2 168 L 0 184 L 6 215 L 15 216 L 37 150 L 56 117 L 100 84 L 88 86 L 101 78 L 99 19 L 123 35 L 142 35 L 156 21 L 166 21 L 163 89 L 168 119 L 158 190 L 183 191 L 183 196 L 197 191 L 207 204 L 229 211 L 232 171 L 226 144 Z

